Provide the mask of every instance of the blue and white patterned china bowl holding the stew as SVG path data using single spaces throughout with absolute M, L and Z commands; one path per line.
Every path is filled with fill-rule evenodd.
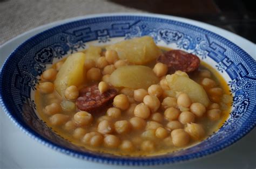
M 224 76 L 233 94 L 227 121 L 203 142 L 154 157 L 127 157 L 85 150 L 53 132 L 38 116 L 34 92 L 42 72 L 89 44 L 106 45 L 149 35 L 160 46 L 192 52 Z M 6 114 L 42 144 L 82 159 L 122 165 L 154 165 L 191 160 L 220 151 L 256 125 L 256 63 L 245 51 L 217 34 L 186 23 L 154 16 L 110 15 L 53 27 L 26 40 L 5 61 L 0 101 Z

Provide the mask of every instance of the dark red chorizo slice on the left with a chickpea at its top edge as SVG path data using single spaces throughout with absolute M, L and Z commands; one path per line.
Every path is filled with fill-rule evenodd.
M 76 105 L 79 110 L 96 112 L 111 104 L 116 95 L 117 90 L 114 88 L 109 88 L 100 94 L 98 85 L 87 86 L 79 91 Z

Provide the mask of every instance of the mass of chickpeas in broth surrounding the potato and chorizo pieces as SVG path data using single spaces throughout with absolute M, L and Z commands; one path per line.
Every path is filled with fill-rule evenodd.
M 120 60 L 113 50 L 102 52 L 96 60 L 85 60 L 86 79 L 97 83 L 100 94 L 111 84 L 111 73 L 119 67 L 129 65 Z M 186 93 L 177 92 L 168 96 L 170 90 L 165 75 L 167 66 L 157 63 L 152 71 L 159 83 L 147 89 L 118 88 L 112 107 L 98 114 L 80 111 L 76 108 L 80 86 L 69 86 L 60 97 L 53 85 L 63 61 L 47 69 L 41 75 L 37 89 L 45 99 L 43 113 L 50 125 L 66 132 L 79 145 L 93 150 L 118 152 L 121 154 L 146 154 L 175 147 L 184 147 L 204 139 L 208 131 L 205 121 L 221 118 L 221 97 L 223 89 L 212 80 L 210 71 L 199 71 L 200 85 L 205 88 L 211 104 L 193 102 Z

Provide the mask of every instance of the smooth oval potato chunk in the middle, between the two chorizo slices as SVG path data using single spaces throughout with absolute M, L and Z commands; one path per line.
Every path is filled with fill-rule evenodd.
M 141 65 L 119 67 L 110 75 L 110 83 L 114 87 L 131 89 L 147 89 L 159 82 L 151 68 Z

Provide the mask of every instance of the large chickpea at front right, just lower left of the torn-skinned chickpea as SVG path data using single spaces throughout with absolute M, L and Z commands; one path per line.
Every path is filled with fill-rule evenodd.
M 183 129 L 176 129 L 171 132 L 172 143 L 174 146 L 185 146 L 190 142 L 190 135 Z

